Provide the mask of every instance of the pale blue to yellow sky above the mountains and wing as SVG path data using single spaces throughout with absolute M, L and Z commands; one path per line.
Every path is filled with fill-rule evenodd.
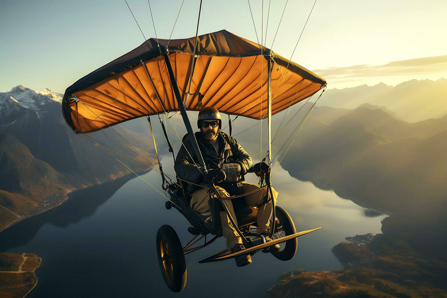
M 155 37 L 148 1 L 127 2 L 146 38 Z M 157 36 L 169 38 L 182 1 L 150 3 Z M 271 1 L 270 11 L 268 0 L 249 3 L 203 1 L 198 34 L 226 29 L 266 41 L 328 88 L 447 77 L 445 0 L 317 0 L 305 28 L 314 0 L 288 0 L 282 19 L 286 0 Z M 173 39 L 195 35 L 199 5 L 183 2 Z M 23 84 L 63 93 L 144 42 L 124 0 L 1 0 L 0 28 L 0 92 Z

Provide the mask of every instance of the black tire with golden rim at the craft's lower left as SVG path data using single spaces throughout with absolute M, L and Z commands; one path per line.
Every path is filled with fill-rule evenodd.
M 186 261 L 173 227 L 163 225 L 158 229 L 156 247 L 164 282 L 171 291 L 180 292 L 186 285 Z

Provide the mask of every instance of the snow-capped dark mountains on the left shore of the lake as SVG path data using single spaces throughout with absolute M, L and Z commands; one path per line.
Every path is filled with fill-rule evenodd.
M 150 161 L 113 130 L 76 135 L 63 120 L 61 101 L 62 94 L 23 85 L 0 92 L 0 231 L 21 218 L 59 205 L 74 189 L 130 173 L 107 151 L 136 172 L 147 171 L 144 164 L 156 160 L 147 133 L 114 127 Z

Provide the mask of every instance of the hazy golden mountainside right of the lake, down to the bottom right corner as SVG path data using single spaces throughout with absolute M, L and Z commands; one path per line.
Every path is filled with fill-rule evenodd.
M 284 273 L 266 296 L 447 297 L 446 117 L 408 123 L 371 106 L 349 111 L 329 125 L 310 118 L 282 165 L 391 214 L 383 234 L 367 243 L 347 237 L 333 248 L 344 270 Z

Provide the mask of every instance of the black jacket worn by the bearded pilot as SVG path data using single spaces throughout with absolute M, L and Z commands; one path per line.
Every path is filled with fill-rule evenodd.
M 203 160 L 208 169 L 221 168 L 224 163 L 238 163 L 241 167 L 241 177 L 236 182 L 221 182 L 217 185 L 223 187 L 231 195 L 239 194 L 237 191 L 237 183 L 244 181 L 244 175 L 252 168 L 253 161 L 250 155 L 240 146 L 240 144 L 233 137 L 223 132 L 218 133 L 219 152 L 216 151 L 214 145 L 205 139 L 200 131 L 196 132 L 200 151 L 202 152 Z M 177 176 L 186 181 L 195 184 L 203 183 L 203 170 L 199 169 L 200 163 L 192 147 L 188 134 L 183 137 L 183 144 L 177 153 L 174 163 L 174 169 Z M 186 148 L 185 148 L 186 146 Z M 191 160 L 191 157 L 193 160 Z M 202 171 L 202 172 L 201 172 Z M 199 186 L 188 183 L 188 194 L 200 189 Z

